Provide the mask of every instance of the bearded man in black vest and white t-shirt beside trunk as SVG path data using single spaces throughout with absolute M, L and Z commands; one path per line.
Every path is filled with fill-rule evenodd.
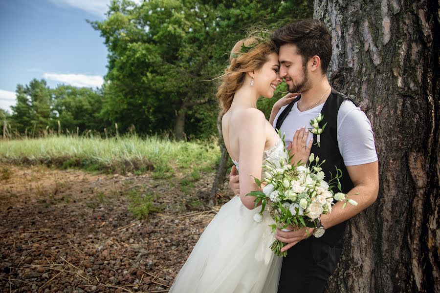
M 286 145 L 296 129 L 312 128 L 310 120 L 320 113 L 323 120 L 320 144 L 317 135 L 309 133 L 314 145 L 311 152 L 326 162 L 321 166 L 326 180 L 342 171 L 342 192 L 358 205 L 337 202 L 330 214 L 321 215 L 316 228 L 285 232 L 277 230 L 276 238 L 287 243 L 278 293 L 322 292 L 342 252 L 347 220 L 374 203 L 379 188 L 378 162 L 373 131 L 367 116 L 345 95 L 330 87 L 327 68 L 331 59 L 331 37 L 323 22 L 303 20 L 289 23 L 272 35 L 279 48 L 280 76 L 291 93 L 301 92 L 287 105 L 275 103 L 273 126 L 286 134 Z M 305 146 L 302 146 L 305 147 Z M 230 175 L 230 186 L 239 193 L 236 170 Z M 320 223 L 319 223 L 320 222 Z M 322 234 L 324 232 L 324 234 Z M 322 234 L 322 235 L 320 235 Z

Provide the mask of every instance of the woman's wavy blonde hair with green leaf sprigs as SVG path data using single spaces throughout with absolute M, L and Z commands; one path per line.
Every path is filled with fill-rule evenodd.
M 270 53 L 278 53 L 277 47 L 266 37 L 268 35 L 267 31 L 254 31 L 232 48 L 229 66 L 219 77 L 221 84 L 216 93 L 223 113 L 231 107 L 234 94 L 242 86 L 246 72 L 260 69 Z

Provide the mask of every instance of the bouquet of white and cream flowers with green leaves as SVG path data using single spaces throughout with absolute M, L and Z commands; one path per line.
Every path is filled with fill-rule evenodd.
M 284 137 L 283 137 L 284 143 Z M 286 151 L 286 147 L 285 147 Z M 325 162 L 319 161 L 319 157 L 310 154 L 308 167 L 299 162 L 296 166 L 291 166 L 293 156 L 282 158 L 279 162 L 269 162 L 266 160 L 264 168 L 264 179 L 261 181 L 255 178 L 257 185 L 263 191 L 252 191 L 246 196 L 255 196 L 255 207 L 261 202 L 261 211 L 254 215 L 254 220 L 261 222 L 263 211 L 267 207 L 270 215 L 276 224 L 270 225 L 272 230 L 277 228 L 286 230 L 287 227 L 301 229 L 303 227 L 315 227 L 315 220 L 321 214 L 331 212 L 333 200 L 343 201 L 345 208 L 347 202 L 352 205 L 357 203 L 348 199 L 347 194 L 332 191 L 336 187 L 341 191 L 341 170 L 336 168 L 336 174 L 329 182 L 324 180 L 324 172 L 321 165 Z M 281 252 L 286 245 L 279 240 L 275 240 L 271 249 L 278 256 L 286 256 L 287 251 Z

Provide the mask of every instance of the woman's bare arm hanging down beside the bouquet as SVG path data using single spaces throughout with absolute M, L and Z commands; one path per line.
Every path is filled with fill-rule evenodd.
M 265 118 L 255 108 L 243 110 L 238 129 L 240 145 L 240 199 L 248 209 L 254 209 L 255 197 L 246 196 L 258 186 L 254 178 L 261 179 L 264 145 L 266 143 Z

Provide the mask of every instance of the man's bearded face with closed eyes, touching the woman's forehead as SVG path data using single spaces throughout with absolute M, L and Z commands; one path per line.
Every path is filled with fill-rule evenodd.
M 297 53 L 296 45 L 284 44 L 280 47 L 280 77 L 284 78 L 291 93 L 306 92 L 311 88 L 307 66 Z

